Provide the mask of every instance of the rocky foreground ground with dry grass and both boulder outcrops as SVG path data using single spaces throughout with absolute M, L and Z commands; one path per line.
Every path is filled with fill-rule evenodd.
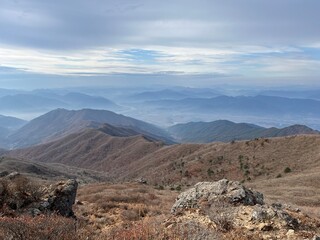
M 11 173 L 0 178 L 0 194 L 4 239 L 320 237 L 316 217 L 285 203 L 267 204 L 263 194 L 227 179 L 199 182 L 178 195 L 141 181 L 78 190 L 75 180 L 43 185 Z

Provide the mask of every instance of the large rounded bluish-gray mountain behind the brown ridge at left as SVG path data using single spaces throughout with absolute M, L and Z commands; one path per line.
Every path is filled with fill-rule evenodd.
M 10 148 L 27 147 L 53 141 L 85 128 L 100 128 L 104 123 L 170 142 L 164 130 L 149 123 L 107 110 L 92 109 L 50 111 L 15 131 L 7 142 Z

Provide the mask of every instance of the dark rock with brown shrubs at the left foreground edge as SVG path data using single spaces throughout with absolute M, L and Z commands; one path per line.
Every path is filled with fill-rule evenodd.
M 77 188 L 78 183 L 74 179 L 43 186 L 19 173 L 8 174 L 0 178 L 0 208 L 6 210 L 1 214 L 57 213 L 73 216 L 72 205 Z

